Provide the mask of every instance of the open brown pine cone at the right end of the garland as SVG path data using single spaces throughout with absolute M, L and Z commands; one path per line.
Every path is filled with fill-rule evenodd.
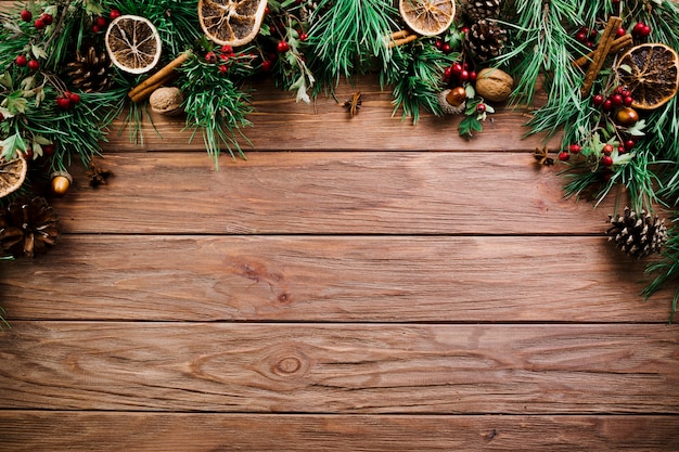
M 606 231 L 610 242 L 615 242 L 618 249 L 633 259 L 641 259 L 661 250 L 667 241 L 665 220 L 651 217 L 645 210 L 641 215 L 625 207 L 623 217 L 608 217 L 612 224 Z

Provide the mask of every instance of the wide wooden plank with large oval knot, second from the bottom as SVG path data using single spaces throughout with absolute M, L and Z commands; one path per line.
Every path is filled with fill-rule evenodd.
M 677 326 L 16 322 L 0 408 L 679 414 Z

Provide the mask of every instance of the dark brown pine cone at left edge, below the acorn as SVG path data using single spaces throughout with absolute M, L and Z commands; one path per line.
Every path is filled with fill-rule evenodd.
M 20 197 L 0 216 L 0 251 L 34 257 L 56 243 L 59 219 L 47 199 Z

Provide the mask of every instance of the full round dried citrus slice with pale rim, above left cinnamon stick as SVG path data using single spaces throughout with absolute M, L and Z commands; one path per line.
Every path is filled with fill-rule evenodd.
M 145 17 L 116 17 L 106 29 L 105 42 L 111 62 L 126 73 L 146 73 L 161 59 L 161 36 Z

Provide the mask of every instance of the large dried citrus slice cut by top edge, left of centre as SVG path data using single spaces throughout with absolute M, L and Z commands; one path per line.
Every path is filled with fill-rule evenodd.
M 198 0 L 198 20 L 209 39 L 221 46 L 244 46 L 261 27 L 267 0 Z

